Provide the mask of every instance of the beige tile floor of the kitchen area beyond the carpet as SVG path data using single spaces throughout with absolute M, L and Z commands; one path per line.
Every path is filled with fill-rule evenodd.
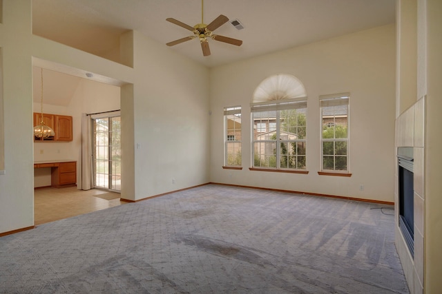
M 94 196 L 102 193 L 108 192 L 99 189 L 84 191 L 77 187 L 35 189 L 34 223 L 38 226 L 127 203 L 120 201 L 119 198 L 104 200 Z

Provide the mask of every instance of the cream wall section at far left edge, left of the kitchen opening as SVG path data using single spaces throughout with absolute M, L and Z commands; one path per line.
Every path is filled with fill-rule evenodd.
M 3 1 L 5 175 L 0 175 L 0 232 L 34 224 L 30 1 Z

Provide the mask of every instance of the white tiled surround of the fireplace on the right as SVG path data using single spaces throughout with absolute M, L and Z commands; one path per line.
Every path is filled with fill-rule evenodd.
M 423 235 L 424 235 L 424 150 L 425 150 L 425 97 L 419 99 L 396 119 L 397 147 L 413 147 L 414 153 L 414 258 L 398 227 L 398 168 L 395 174 L 395 243 L 403 266 L 410 293 L 423 293 Z

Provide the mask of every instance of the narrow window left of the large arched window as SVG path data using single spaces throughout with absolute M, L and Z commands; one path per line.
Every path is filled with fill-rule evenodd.
M 224 107 L 224 166 L 241 165 L 241 107 Z

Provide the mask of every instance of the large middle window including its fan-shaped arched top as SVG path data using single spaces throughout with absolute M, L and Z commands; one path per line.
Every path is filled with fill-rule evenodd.
M 252 169 L 306 171 L 307 94 L 289 74 L 266 78 L 251 103 Z

